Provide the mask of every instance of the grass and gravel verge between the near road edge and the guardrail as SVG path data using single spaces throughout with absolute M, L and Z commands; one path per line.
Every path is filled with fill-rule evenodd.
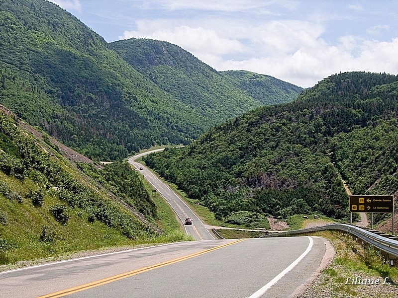
M 328 239 L 335 249 L 335 258 L 300 297 L 398 297 L 398 268 L 390 267 L 379 251 L 363 247 L 338 231 L 311 235 Z M 365 280 L 379 283 L 358 284 Z

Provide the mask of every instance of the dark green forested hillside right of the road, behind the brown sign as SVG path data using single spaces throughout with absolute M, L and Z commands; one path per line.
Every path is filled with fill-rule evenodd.
M 397 97 L 396 75 L 332 75 L 145 161 L 226 222 L 239 211 L 347 219 L 340 174 L 355 194 L 398 190 Z

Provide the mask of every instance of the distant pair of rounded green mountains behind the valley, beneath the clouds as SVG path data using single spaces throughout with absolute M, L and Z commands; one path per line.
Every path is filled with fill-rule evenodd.
M 302 91 L 266 75 L 217 72 L 165 41 L 131 38 L 109 46 L 162 90 L 204 115 L 205 129 L 262 105 L 292 101 Z

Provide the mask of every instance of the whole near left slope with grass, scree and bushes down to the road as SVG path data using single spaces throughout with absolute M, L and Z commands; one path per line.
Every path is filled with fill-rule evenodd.
M 172 241 L 160 234 L 154 202 L 129 164 L 98 169 L 82 158 L 0 106 L 0 265 Z M 78 163 L 86 174 L 79 160 L 89 162 Z M 176 240 L 183 239 L 181 232 Z

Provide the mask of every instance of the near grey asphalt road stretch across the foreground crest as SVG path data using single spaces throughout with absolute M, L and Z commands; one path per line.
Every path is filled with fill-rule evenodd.
M 0 297 L 285 298 L 325 251 L 308 236 L 172 243 L 1 272 Z

